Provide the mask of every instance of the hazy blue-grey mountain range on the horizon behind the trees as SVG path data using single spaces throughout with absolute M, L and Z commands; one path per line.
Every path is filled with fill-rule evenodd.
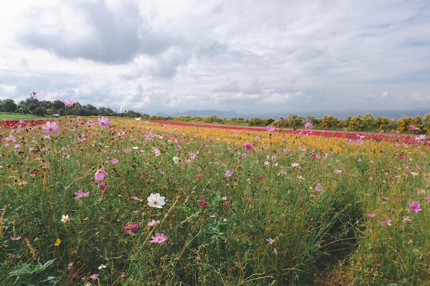
M 164 112 L 158 112 L 155 115 L 163 116 L 163 117 L 183 117 L 183 116 L 190 116 L 190 117 L 210 117 L 210 116 L 216 116 L 220 118 L 239 118 L 242 117 L 244 119 L 251 119 L 260 117 L 262 119 L 265 118 L 273 118 L 278 119 L 279 117 L 288 117 L 290 114 L 295 114 L 298 116 L 302 116 L 306 119 L 308 116 L 313 116 L 317 118 L 323 118 L 325 115 L 332 115 L 334 117 L 337 117 L 339 119 L 346 119 L 346 117 L 354 117 L 357 115 L 365 115 L 370 113 L 375 118 L 378 116 L 381 117 L 387 117 L 389 119 L 400 119 L 402 117 L 416 117 L 421 116 L 424 117 L 426 114 L 430 114 L 430 108 L 427 109 L 410 109 L 410 110 L 357 110 L 357 109 L 349 109 L 349 110 L 342 110 L 342 111 L 335 111 L 335 110 L 316 110 L 316 111 L 309 111 L 309 112 L 267 112 L 267 113 L 254 113 L 254 114 L 240 114 L 235 111 L 219 111 L 214 109 L 209 110 L 187 110 L 184 112 L 174 112 L 172 114 L 167 114 Z

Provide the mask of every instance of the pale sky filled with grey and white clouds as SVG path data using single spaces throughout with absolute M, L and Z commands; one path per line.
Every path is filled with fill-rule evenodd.
M 16 0 L 0 99 L 149 115 L 430 108 L 428 0 Z

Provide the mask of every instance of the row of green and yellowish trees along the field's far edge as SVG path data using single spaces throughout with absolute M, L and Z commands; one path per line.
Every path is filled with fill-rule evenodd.
M 67 104 L 67 105 L 66 105 Z M 165 117 L 165 116 L 150 116 L 143 112 L 135 112 L 134 110 L 124 110 L 115 112 L 111 108 L 100 107 L 96 108 L 91 104 L 82 106 L 79 102 L 66 102 L 64 100 L 55 100 L 53 102 L 39 100 L 36 93 L 32 93 L 29 98 L 16 104 L 13 99 L 0 99 L 0 112 L 18 112 L 24 115 L 32 114 L 36 116 L 52 116 L 53 114 L 64 115 L 79 115 L 79 116 L 115 116 L 115 117 L 141 117 L 146 120 L 173 120 L 183 122 L 202 122 L 202 123 L 218 123 L 229 125 L 245 125 L 245 126 L 275 126 L 277 128 L 302 129 L 304 123 L 310 122 L 315 129 L 321 130 L 341 130 L 347 129 L 351 131 L 369 131 L 369 132 L 410 132 L 414 134 L 423 134 L 430 132 L 430 114 L 424 117 L 417 115 L 416 117 L 401 117 L 400 119 L 389 119 L 388 117 L 374 117 L 372 114 L 363 116 L 350 116 L 345 119 L 338 119 L 332 115 L 325 115 L 322 118 L 317 118 L 308 115 L 307 117 L 290 114 L 286 117 L 280 117 L 278 120 L 273 118 L 261 119 L 255 117 L 252 119 L 245 118 L 220 118 L 215 115 L 210 117 Z

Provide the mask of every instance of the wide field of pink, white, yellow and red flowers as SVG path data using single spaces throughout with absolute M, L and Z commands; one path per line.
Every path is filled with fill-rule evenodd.
M 0 285 L 429 285 L 425 135 L 0 129 Z

